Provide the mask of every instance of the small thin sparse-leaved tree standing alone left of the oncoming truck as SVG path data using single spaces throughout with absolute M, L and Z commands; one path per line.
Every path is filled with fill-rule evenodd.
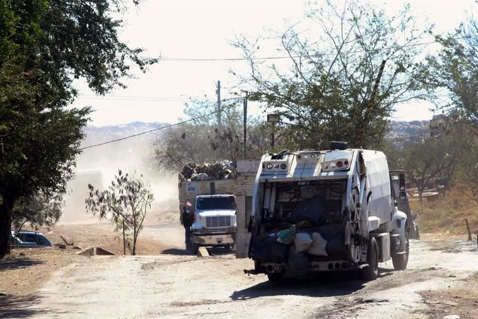
M 98 218 L 109 218 L 115 225 L 115 232 L 121 230 L 122 234 L 132 235 L 131 255 L 136 255 L 136 242 L 143 228 L 144 217 L 148 208 L 151 208 L 153 194 L 149 184 L 134 175 L 123 174 L 118 170 L 118 175 L 108 186 L 108 189 L 99 191 L 88 184 L 90 196 L 85 200 L 86 209 Z M 123 223 L 124 222 L 124 223 Z

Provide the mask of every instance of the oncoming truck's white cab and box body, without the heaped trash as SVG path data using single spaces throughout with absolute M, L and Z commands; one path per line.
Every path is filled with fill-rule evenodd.
M 186 242 L 193 254 L 201 246 L 236 248 L 236 189 L 236 179 L 179 183 L 181 224 L 185 206 L 194 213 L 190 242 Z

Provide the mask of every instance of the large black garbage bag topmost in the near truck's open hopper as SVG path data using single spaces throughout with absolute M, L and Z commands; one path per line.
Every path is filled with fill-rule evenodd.
M 323 225 L 327 221 L 327 203 L 321 197 L 304 199 L 295 206 L 290 218 L 292 223 L 307 220 L 314 226 Z

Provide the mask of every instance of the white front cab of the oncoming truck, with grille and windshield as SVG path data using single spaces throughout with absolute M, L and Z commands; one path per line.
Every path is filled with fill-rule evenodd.
M 199 195 L 194 205 L 191 241 L 194 253 L 200 246 L 235 249 L 237 218 L 236 196 Z

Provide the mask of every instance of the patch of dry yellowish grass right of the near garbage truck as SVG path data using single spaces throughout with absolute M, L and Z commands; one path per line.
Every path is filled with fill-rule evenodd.
M 421 233 L 467 234 L 465 218 L 470 230 L 478 233 L 478 205 L 461 190 L 456 189 L 441 195 L 438 199 L 411 200 L 412 211 L 418 212 L 418 225 Z

